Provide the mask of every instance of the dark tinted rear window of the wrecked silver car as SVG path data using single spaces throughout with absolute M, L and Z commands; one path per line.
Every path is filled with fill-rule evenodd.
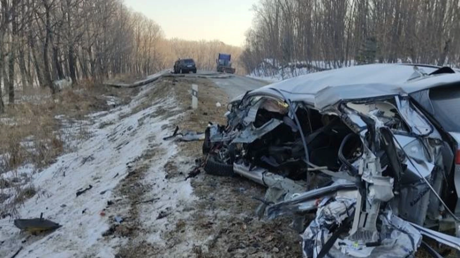
M 460 85 L 430 90 L 434 118 L 449 132 L 460 132 Z

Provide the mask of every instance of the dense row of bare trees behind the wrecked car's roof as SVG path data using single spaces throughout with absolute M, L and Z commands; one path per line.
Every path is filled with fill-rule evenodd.
M 302 61 L 460 64 L 460 0 L 260 0 L 241 60 L 247 72 Z

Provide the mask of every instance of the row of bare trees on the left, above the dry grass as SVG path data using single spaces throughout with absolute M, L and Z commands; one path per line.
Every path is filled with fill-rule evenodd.
M 18 87 L 50 87 L 54 94 L 55 80 L 157 68 L 160 26 L 121 0 L 0 0 L 0 16 L 0 81 L 9 104 Z

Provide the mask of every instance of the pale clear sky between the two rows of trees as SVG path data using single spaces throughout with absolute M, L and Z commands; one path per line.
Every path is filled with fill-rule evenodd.
M 242 46 L 258 0 L 125 0 L 152 18 L 167 38 L 213 40 Z

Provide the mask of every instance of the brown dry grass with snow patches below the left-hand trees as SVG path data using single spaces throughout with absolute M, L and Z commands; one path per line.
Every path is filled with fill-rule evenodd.
M 25 164 L 33 165 L 35 170 L 48 167 L 58 156 L 70 151 L 67 140 L 91 137 L 81 121 L 91 112 L 108 110 L 107 96 L 126 104 L 134 94 L 136 90 L 105 87 L 93 81 L 81 81 L 71 89 L 62 90 L 54 99 L 48 89 L 18 93 L 17 104 L 6 106 L 6 112 L 0 115 L 0 214 L 14 216 L 17 205 L 37 192 L 33 186 L 24 187 L 27 180 L 17 175 L 18 168 Z M 57 116 L 69 121 L 73 130 L 63 130 L 62 120 Z M 13 177 L 3 176 L 6 172 Z

